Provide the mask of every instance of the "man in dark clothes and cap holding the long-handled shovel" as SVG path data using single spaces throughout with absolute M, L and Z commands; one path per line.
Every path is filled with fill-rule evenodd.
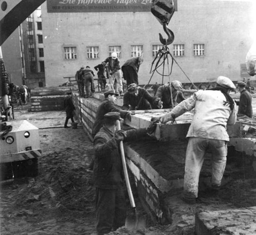
M 119 112 L 104 115 L 104 125 L 93 140 L 95 150 L 94 182 L 96 186 L 96 229 L 103 235 L 124 226 L 126 198 L 123 191 L 124 175 L 120 155 L 120 141 L 137 141 L 156 128 L 116 130 Z

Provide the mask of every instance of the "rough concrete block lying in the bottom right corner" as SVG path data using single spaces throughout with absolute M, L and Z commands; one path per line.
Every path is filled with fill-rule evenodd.
M 256 234 L 256 207 L 197 212 L 197 235 L 253 235 Z

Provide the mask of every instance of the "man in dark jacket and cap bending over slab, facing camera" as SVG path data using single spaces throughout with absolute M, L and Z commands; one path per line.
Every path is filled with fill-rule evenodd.
M 162 102 L 159 98 L 151 96 L 145 88 L 132 83 L 127 87 L 123 96 L 123 110 L 159 109 Z

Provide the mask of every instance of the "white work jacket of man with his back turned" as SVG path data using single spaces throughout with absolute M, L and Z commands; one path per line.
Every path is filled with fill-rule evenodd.
M 221 91 L 199 90 L 164 115 L 163 119 L 170 120 L 170 117 L 178 117 L 193 108 L 194 116 L 187 137 L 229 141 L 226 126 L 235 124 L 237 120 L 236 104 L 231 111 Z

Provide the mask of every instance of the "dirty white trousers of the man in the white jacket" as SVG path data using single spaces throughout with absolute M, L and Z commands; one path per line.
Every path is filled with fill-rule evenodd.
M 211 151 L 211 184 L 220 186 L 226 167 L 228 147 L 224 140 L 190 137 L 187 144 L 183 192 L 197 198 L 200 171 L 206 150 Z

